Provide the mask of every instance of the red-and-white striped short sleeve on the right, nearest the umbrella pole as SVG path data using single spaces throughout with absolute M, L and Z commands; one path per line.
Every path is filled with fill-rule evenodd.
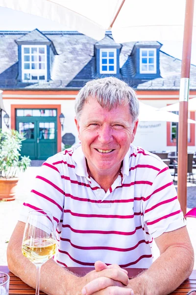
M 143 198 L 142 209 L 144 226 L 153 238 L 185 226 L 168 167 L 163 167 L 155 177 Z

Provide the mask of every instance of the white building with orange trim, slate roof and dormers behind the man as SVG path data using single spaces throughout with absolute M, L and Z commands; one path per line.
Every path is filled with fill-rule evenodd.
M 9 127 L 25 134 L 22 154 L 45 160 L 78 142 L 74 100 L 92 79 L 118 77 L 153 107 L 177 102 L 181 61 L 161 46 L 157 41 L 116 44 L 110 32 L 97 42 L 71 31 L 1 31 L 0 89 Z M 196 66 L 191 65 L 190 98 L 195 96 Z M 65 117 L 62 125 L 59 117 Z M 195 112 L 190 118 L 195 119 Z M 190 124 L 190 150 L 196 149 L 195 133 L 195 124 Z M 175 138 L 176 123 L 140 122 L 134 144 L 175 150 Z

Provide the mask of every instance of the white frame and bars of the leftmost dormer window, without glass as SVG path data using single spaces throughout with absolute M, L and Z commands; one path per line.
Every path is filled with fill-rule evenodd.
M 45 64 L 45 69 L 25 69 L 25 52 L 24 49 L 25 48 L 29 48 L 29 55 L 31 57 L 31 48 L 37 48 L 37 52 L 39 53 L 39 48 L 44 48 L 44 56 L 45 56 L 45 61 L 42 62 Z M 31 60 L 29 61 L 29 63 L 37 63 L 39 62 L 32 62 Z M 38 63 L 39 64 L 39 63 Z M 25 74 L 30 74 L 30 76 L 34 75 L 34 76 L 45 76 L 45 79 L 25 79 Z M 38 82 L 38 81 L 47 81 L 47 46 L 46 45 L 22 45 L 22 81 L 24 82 Z

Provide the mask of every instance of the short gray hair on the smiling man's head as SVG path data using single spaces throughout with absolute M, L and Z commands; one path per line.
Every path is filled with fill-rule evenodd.
M 111 110 L 117 105 L 129 105 L 133 123 L 139 115 L 139 102 L 135 91 L 115 77 L 95 79 L 86 83 L 75 98 L 75 114 L 80 119 L 82 108 L 89 97 L 97 99 L 100 106 Z

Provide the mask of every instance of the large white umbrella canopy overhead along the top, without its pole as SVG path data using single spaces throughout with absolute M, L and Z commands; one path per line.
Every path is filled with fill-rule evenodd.
M 185 4 L 184 0 L 0 0 L 2 7 L 56 21 L 96 40 L 111 30 L 116 43 L 182 41 Z

